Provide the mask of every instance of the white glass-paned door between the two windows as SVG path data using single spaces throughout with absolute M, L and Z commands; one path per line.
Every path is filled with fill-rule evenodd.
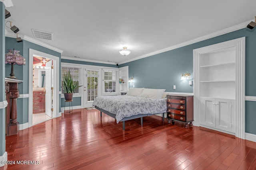
M 94 98 L 99 96 L 99 77 L 100 70 L 93 68 L 85 69 L 85 77 L 84 77 L 84 107 L 92 107 L 92 103 Z

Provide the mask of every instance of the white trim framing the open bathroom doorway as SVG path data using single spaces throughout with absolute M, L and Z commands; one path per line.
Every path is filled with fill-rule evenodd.
M 32 118 L 33 118 L 33 55 L 37 55 L 40 57 L 45 57 L 48 59 L 52 59 L 54 61 L 54 104 L 53 104 L 53 117 L 57 117 L 59 113 L 59 69 L 60 69 L 60 58 L 54 55 L 50 55 L 47 53 L 43 53 L 41 51 L 37 51 L 34 49 L 29 49 L 29 65 L 28 65 L 28 126 L 32 126 Z

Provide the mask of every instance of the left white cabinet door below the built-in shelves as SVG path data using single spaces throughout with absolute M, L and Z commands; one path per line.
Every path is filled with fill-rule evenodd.
M 215 127 L 215 105 L 212 98 L 202 98 L 202 125 Z

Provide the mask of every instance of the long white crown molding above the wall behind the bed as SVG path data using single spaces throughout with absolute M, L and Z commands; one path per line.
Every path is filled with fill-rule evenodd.
M 156 55 L 156 54 L 160 54 L 160 53 L 163 53 L 163 52 L 166 52 L 166 51 L 170 51 L 170 50 L 173 50 L 173 49 L 178 49 L 180 47 L 184 47 L 186 45 L 190 45 L 190 44 L 194 44 L 194 43 L 198 43 L 200 41 L 204 41 L 206 39 L 210 39 L 210 38 L 213 38 L 213 37 L 217 37 L 217 36 L 220 36 L 220 35 L 223 35 L 223 34 L 226 34 L 226 33 L 230 33 L 230 32 L 233 32 L 233 31 L 237 31 L 239 29 L 243 29 L 243 28 L 246 28 L 246 26 L 248 25 L 248 23 L 250 23 L 251 21 L 254 21 L 254 20 L 250 20 L 250 21 L 247 21 L 247 22 L 244 22 L 244 23 L 240 23 L 238 25 L 234 25 L 232 27 L 228 27 L 226 29 L 222 29 L 220 31 L 216 31 L 214 33 L 210 33 L 208 35 L 204 35 L 202 37 L 199 37 L 199 38 L 196 38 L 196 39 L 192 39 L 190 41 L 186 41 L 184 43 L 180 43 L 180 44 L 177 44 L 177 45 L 174 45 L 174 46 L 171 46 L 171 47 L 167 47 L 165 49 L 161 49 L 161 50 L 158 50 L 158 51 L 154 51 L 152 53 L 148 53 L 148 54 L 145 54 L 145 55 L 142 55 L 142 56 L 139 56 L 139 57 L 136 57 L 136 58 L 133 58 L 133 59 L 130 59 L 130 60 L 126 60 L 126 61 L 123 61 L 123 62 L 120 62 L 118 63 L 119 65 L 120 64 L 124 64 L 124 63 L 128 63 L 128 62 L 131 62 L 131 61 L 135 61 L 135 60 L 138 60 L 138 59 L 143 59 L 145 57 L 150 57 L 152 55 Z

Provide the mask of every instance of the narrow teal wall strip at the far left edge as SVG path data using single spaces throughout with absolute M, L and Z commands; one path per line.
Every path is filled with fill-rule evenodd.
M 0 2 L 0 102 L 5 100 L 5 6 Z M 5 152 L 5 108 L 0 109 L 0 156 Z M 0 164 L 2 166 L 2 164 Z

